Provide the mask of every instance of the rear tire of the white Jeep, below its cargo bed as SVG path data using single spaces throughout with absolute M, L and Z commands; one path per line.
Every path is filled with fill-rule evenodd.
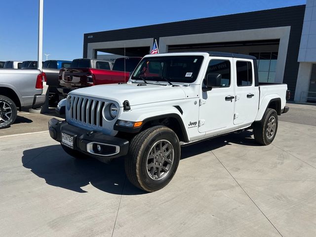
M 273 132 L 273 135 L 271 137 L 268 136 L 268 130 L 269 129 L 269 121 L 271 119 L 275 119 L 275 129 Z M 277 124 L 278 124 L 278 118 L 276 110 L 268 108 L 263 115 L 261 121 L 253 122 L 253 135 L 255 138 L 255 141 L 261 145 L 267 146 L 273 142 L 273 140 L 276 137 L 276 131 L 277 131 Z M 270 133 L 271 134 L 271 133 Z

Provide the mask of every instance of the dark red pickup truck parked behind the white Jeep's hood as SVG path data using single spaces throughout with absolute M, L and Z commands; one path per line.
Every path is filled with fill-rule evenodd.
M 114 65 L 99 59 L 74 59 L 69 68 L 59 72 L 59 99 L 81 87 L 126 82 L 141 57 L 118 58 Z

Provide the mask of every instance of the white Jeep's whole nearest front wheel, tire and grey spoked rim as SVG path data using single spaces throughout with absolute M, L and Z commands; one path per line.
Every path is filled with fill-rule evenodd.
M 129 181 L 147 192 L 165 187 L 173 178 L 180 161 L 177 135 L 165 126 L 154 126 L 137 134 L 125 158 Z

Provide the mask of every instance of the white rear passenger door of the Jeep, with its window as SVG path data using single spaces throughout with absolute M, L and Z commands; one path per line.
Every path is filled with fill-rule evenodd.
M 258 112 L 259 93 L 255 89 L 252 60 L 234 58 L 235 113 L 234 124 L 248 124 L 255 120 Z

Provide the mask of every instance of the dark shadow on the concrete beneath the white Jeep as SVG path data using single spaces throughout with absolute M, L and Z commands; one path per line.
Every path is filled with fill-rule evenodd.
M 206 140 L 182 148 L 181 159 L 209 152 L 216 148 L 237 143 L 255 146 L 252 132 L 230 134 Z M 86 193 L 91 184 L 95 188 L 117 195 L 142 195 L 143 192 L 134 187 L 126 178 L 124 158 L 114 159 L 110 164 L 102 163 L 94 158 L 75 159 L 67 155 L 60 145 L 52 145 L 26 150 L 22 157 L 23 166 L 46 183 L 55 187 Z

